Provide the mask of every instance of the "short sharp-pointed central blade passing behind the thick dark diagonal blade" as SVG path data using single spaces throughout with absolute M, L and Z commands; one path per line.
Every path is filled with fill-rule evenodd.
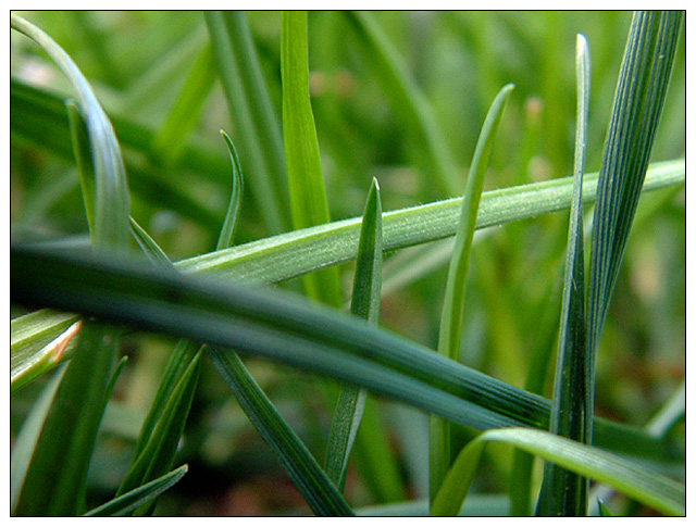
M 377 180 L 372 180 L 360 229 L 350 312 L 376 325 L 382 299 L 382 200 Z M 326 447 L 326 474 L 343 492 L 348 456 L 365 407 L 366 390 L 343 385 Z

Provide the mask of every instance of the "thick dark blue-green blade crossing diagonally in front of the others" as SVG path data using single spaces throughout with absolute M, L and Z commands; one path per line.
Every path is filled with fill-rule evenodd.
M 547 429 L 548 400 L 450 361 L 357 317 L 281 291 L 109 262 L 96 255 L 11 248 L 11 300 L 87 313 L 290 364 L 478 429 Z M 680 459 L 634 427 L 596 419 L 597 443 L 635 456 Z

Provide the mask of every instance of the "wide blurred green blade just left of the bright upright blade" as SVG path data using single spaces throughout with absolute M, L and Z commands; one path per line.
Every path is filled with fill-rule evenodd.
M 274 115 L 270 116 L 272 110 L 268 102 L 270 100 L 268 88 L 263 89 L 264 83 L 257 64 L 250 35 L 241 37 L 237 34 L 239 30 L 248 34 L 248 26 L 244 17 L 226 15 L 219 11 L 206 12 L 206 24 L 217 60 L 220 80 L 225 92 L 232 122 L 239 130 L 239 134 L 235 136 L 235 141 L 248 164 L 246 172 L 250 176 L 248 181 L 251 195 L 261 211 L 261 216 L 264 218 L 269 231 L 271 234 L 283 233 L 289 228 L 290 222 L 285 206 L 285 193 L 282 184 L 278 183 L 278 179 L 282 179 L 285 174 L 285 167 L 282 164 L 278 165 L 278 160 L 283 159 L 282 155 L 278 158 L 281 152 L 276 152 L 275 149 L 265 150 L 268 143 L 263 139 L 265 134 L 279 135 L 277 118 Z M 239 39 L 248 43 L 241 50 L 243 55 L 248 55 L 246 59 L 238 57 L 238 49 L 235 45 Z M 257 65 L 250 68 L 249 63 Z M 248 79 L 249 75 L 254 77 L 253 81 Z M 263 118 L 252 113 L 256 111 L 252 109 L 261 106 L 268 109 Z M 265 128 L 265 126 L 270 126 L 270 128 Z

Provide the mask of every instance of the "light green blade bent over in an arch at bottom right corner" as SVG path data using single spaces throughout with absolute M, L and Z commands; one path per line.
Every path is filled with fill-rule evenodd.
M 664 514 L 685 514 L 686 489 L 672 479 L 596 447 L 542 430 L 510 428 L 487 430 L 462 449 L 437 494 L 432 509 L 434 515 L 452 516 L 459 513 L 471 486 L 476 462 L 489 441 L 512 444 L 587 478 L 610 485 Z

